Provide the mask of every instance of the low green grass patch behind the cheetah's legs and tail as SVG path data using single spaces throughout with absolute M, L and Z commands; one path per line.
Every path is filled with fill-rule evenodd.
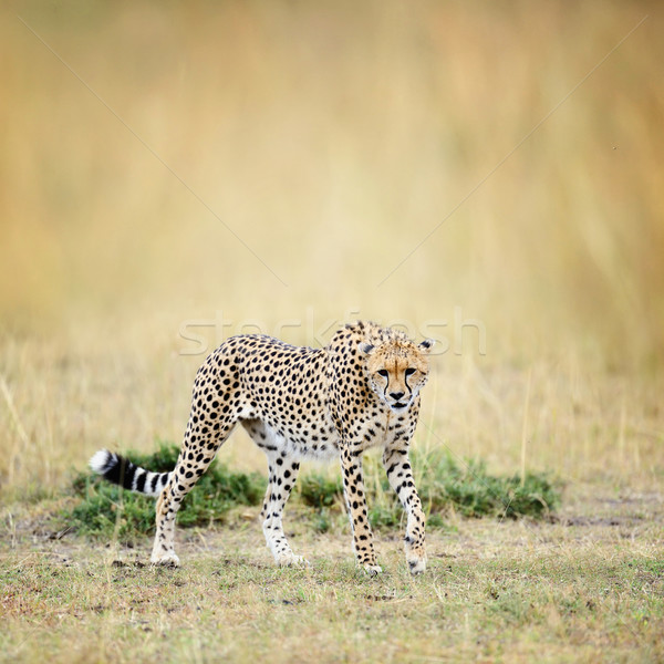
M 179 448 L 162 443 L 149 455 L 128 453 L 139 466 L 154 471 L 172 470 Z M 412 463 L 419 497 L 428 515 L 428 526 L 442 528 L 445 517 L 454 510 L 465 517 L 541 518 L 560 502 L 560 492 L 547 475 L 528 474 L 497 477 L 487 473 L 479 461 L 456 461 L 443 450 L 428 455 L 413 454 Z M 365 485 L 369 516 L 375 528 L 398 527 L 404 511 L 390 487 L 380 459 L 370 455 L 365 460 Z M 133 542 L 154 530 L 155 499 L 126 491 L 102 480 L 91 471 L 80 474 L 73 483 L 80 502 L 68 515 L 69 525 L 81 535 L 115 537 Z M 181 527 L 208 526 L 222 521 L 228 510 L 237 506 L 259 505 L 266 490 L 266 479 L 258 473 L 232 473 L 214 461 L 185 498 L 177 516 Z M 303 474 L 293 496 L 311 511 L 311 526 L 319 532 L 345 522 L 343 485 L 339 475 Z

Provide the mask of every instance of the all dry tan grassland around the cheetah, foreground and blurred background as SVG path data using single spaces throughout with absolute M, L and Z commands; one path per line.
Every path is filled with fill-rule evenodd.
M 660 22 L 639 0 L 4 3 L 0 660 L 664 660 Z M 53 531 L 94 450 L 180 439 L 206 346 L 355 318 L 438 341 L 426 577 L 375 461 L 375 580 L 334 485 L 289 505 L 309 572 L 271 567 L 252 505 L 209 528 L 204 501 L 172 572 L 118 548 L 117 510 L 108 547 Z M 463 466 L 427 487 L 447 453 L 513 478 L 517 511 L 560 478 L 556 518 L 464 517 L 501 507 Z M 243 432 L 219 458 L 264 473 Z

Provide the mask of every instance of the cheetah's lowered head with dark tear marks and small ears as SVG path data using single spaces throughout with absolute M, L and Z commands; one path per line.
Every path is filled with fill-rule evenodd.
M 433 345 L 429 339 L 419 345 L 401 339 L 377 346 L 360 344 L 360 353 L 366 357 L 369 384 L 393 412 L 405 411 L 426 384 L 427 355 Z

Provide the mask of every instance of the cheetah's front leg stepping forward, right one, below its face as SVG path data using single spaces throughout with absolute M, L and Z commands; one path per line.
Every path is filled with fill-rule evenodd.
M 413 480 L 413 470 L 408 459 L 408 448 L 387 447 L 383 454 L 383 465 L 387 471 L 390 485 L 396 491 L 408 520 L 404 548 L 406 562 L 413 574 L 419 574 L 426 569 L 426 550 L 424 547 L 424 511 Z

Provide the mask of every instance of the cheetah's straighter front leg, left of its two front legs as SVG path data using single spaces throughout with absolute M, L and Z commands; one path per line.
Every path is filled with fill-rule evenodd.
M 343 477 L 343 495 L 345 498 L 351 528 L 353 530 L 353 551 L 357 564 L 374 577 L 383 570 L 376 563 L 373 548 L 373 536 L 366 510 L 366 494 L 362 478 L 362 456 L 347 447 L 341 453 L 341 471 Z

